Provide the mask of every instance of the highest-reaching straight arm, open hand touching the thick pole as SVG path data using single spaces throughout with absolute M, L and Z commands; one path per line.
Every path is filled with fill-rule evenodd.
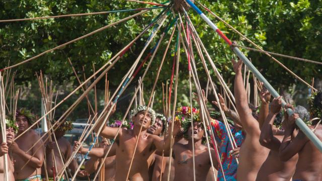
M 256 133 L 259 135 L 259 123 L 252 115 L 252 110 L 248 106 L 248 99 L 243 82 L 243 75 L 241 73 L 242 61 L 231 60 L 233 69 L 236 73 L 234 81 L 234 96 L 236 109 L 240 118 L 241 125 L 243 125 L 247 134 Z

